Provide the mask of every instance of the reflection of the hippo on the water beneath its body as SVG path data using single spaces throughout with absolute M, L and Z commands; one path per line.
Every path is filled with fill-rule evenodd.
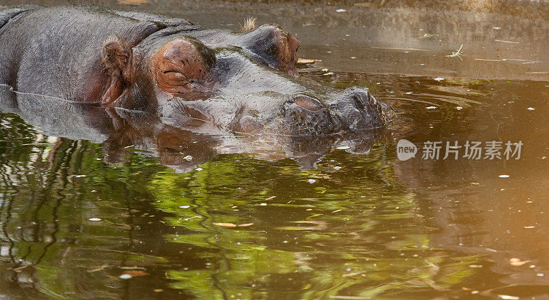
M 236 153 L 253 153 L 255 159 L 268 161 L 291 158 L 302 168 L 311 169 L 333 148 L 368 153 L 380 136 L 379 130 L 307 138 L 233 135 L 211 123 L 200 126 L 197 132 L 195 126 L 165 124 L 150 113 L 16 94 L 6 86 L 0 86 L 0 113 L 16 113 L 45 135 L 102 143 L 104 161 L 108 163 L 125 161 L 133 150 L 139 150 L 141 154 L 159 157 L 163 165 L 178 172 L 192 170 L 217 154 Z

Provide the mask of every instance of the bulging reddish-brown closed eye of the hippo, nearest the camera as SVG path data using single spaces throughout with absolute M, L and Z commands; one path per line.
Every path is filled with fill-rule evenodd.
M 208 88 L 215 55 L 198 41 L 177 38 L 160 49 L 152 65 L 163 91 L 178 94 L 202 91 Z

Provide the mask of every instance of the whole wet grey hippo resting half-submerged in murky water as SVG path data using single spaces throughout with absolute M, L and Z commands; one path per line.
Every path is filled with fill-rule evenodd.
M 245 134 L 334 135 L 382 128 L 393 118 L 364 87 L 338 90 L 300 78 L 300 42 L 278 25 L 247 27 L 208 30 L 95 6 L 6 8 L 0 84 L 143 111 L 170 126 Z

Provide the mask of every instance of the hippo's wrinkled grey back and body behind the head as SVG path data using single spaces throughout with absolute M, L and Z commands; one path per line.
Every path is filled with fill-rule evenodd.
M 14 18 L 14 16 L 16 16 Z M 183 19 L 105 8 L 9 8 L 0 12 L 0 84 L 16 91 L 97 101 L 106 85 L 101 49 L 108 38 L 134 47 Z

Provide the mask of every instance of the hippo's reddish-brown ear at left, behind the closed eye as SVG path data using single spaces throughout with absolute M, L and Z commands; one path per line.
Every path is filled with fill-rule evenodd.
M 101 49 L 101 63 L 108 81 L 101 102 L 110 104 L 117 100 L 130 86 L 132 48 L 120 38 L 110 37 Z

